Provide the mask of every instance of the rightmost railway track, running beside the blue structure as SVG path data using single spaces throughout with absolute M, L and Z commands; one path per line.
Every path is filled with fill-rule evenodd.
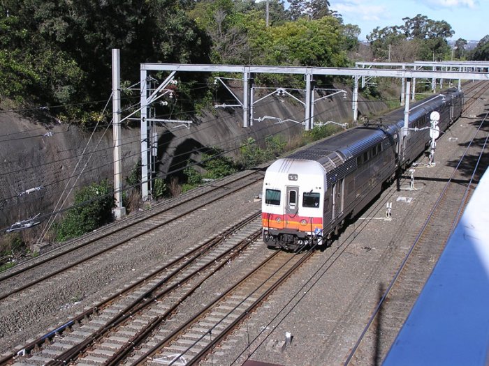
M 476 84 L 472 88 L 475 93 L 472 100 L 479 98 L 486 89 L 487 83 Z M 487 153 L 488 114 L 477 123 L 476 132 L 421 231 L 411 234 L 412 245 L 406 257 L 386 288 L 379 289 L 379 303 L 344 365 L 380 365 L 395 340 L 475 189 L 474 179 L 476 181 L 488 165 L 487 157 L 483 158 Z M 483 162 L 479 164 L 481 158 Z M 472 167 L 468 178 L 467 167 Z

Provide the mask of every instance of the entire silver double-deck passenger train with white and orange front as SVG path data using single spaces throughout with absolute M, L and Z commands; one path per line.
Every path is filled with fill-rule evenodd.
M 329 137 L 278 159 L 263 182 L 263 241 L 268 247 L 297 250 L 329 245 L 345 222 L 391 184 L 430 142 L 430 114 L 439 113 L 443 131 L 462 112 L 463 93 L 448 89 L 404 109 Z

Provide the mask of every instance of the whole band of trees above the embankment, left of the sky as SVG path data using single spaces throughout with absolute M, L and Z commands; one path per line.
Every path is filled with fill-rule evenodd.
M 142 61 L 346 66 L 358 33 L 328 1 L 269 5 L 266 26 L 263 1 L 1 1 L 0 95 L 94 123 L 110 96 L 112 48 L 128 85 Z

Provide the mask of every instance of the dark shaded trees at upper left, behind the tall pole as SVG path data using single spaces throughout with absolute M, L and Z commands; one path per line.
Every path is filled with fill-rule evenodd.
M 140 61 L 207 62 L 207 36 L 177 0 L 5 0 L 0 3 L 0 95 L 61 105 L 58 116 L 85 121 L 111 91 L 111 49 L 122 77 Z M 8 16 L 4 16 L 8 15 Z M 100 101 L 100 104 L 96 104 Z

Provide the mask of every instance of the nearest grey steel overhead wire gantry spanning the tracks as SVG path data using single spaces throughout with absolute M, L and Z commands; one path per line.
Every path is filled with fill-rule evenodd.
M 385 63 L 384 63 L 385 64 Z M 265 74 L 292 74 L 303 75 L 305 80 L 305 101 L 303 103 L 305 108 L 305 117 L 301 121 L 305 130 L 310 130 L 314 126 L 314 76 L 346 76 L 353 77 L 354 90 L 353 90 L 353 121 L 358 119 L 358 80 L 360 77 L 397 77 L 403 80 L 402 96 L 404 96 L 404 129 L 403 137 L 407 137 L 409 134 L 409 128 L 407 122 L 409 120 L 409 97 L 411 96 L 411 81 L 418 79 L 472 79 L 472 80 L 489 80 L 488 66 L 480 64 L 479 66 L 467 66 L 462 68 L 460 66 L 457 70 L 453 70 L 455 66 L 444 66 L 443 70 L 439 70 L 437 66 L 431 66 L 432 70 L 425 70 L 425 66 L 418 63 L 414 63 L 411 68 L 403 64 L 400 68 L 381 68 L 380 63 L 375 63 L 376 68 L 361 67 L 358 65 L 356 68 L 319 68 L 319 67 L 289 67 L 289 66 L 242 66 L 242 65 L 191 65 L 191 64 L 176 64 L 176 63 L 141 63 L 140 64 L 140 82 L 141 82 L 141 99 L 140 99 L 140 123 L 141 123 L 141 162 L 142 162 L 142 195 L 143 199 L 150 197 L 149 184 L 144 182 L 150 182 L 152 180 L 151 171 L 151 121 L 148 118 L 148 110 L 151 102 L 155 100 L 157 91 L 166 88 L 168 83 L 171 82 L 175 73 L 233 73 L 242 75 L 242 98 L 238 98 L 232 93 L 238 102 L 235 107 L 242 108 L 242 127 L 247 128 L 253 124 L 253 78 L 254 75 Z M 448 70 L 448 69 L 449 70 Z M 149 92 L 147 88 L 147 77 L 152 72 L 167 72 L 170 75 L 166 80 L 161 83 L 155 91 Z M 222 82 L 222 79 L 221 79 Z M 460 87 L 460 83 L 459 83 Z M 230 90 L 230 89 L 228 89 Z M 284 92 L 284 88 L 277 88 L 275 92 Z M 270 117 L 270 116 L 269 116 Z M 263 120 L 263 119 L 262 119 Z M 175 121 L 177 122 L 177 121 Z M 183 121 L 182 121 L 183 122 Z

